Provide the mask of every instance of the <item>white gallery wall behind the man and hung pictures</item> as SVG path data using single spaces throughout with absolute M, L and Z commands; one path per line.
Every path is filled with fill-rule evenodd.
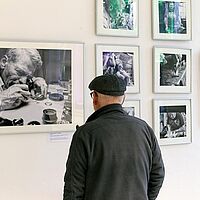
M 138 45 L 140 47 L 141 117 L 153 121 L 152 100 L 192 99 L 192 143 L 162 146 L 166 178 L 159 200 L 200 198 L 200 1 L 192 2 L 192 41 L 156 41 L 151 35 L 151 1 L 139 1 L 139 37 L 103 37 L 95 34 L 94 0 L 0 0 L 0 41 L 84 43 L 84 115 L 92 113 L 87 88 L 95 76 L 95 44 Z M 153 46 L 192 49 L 192 94 L 170 95 L 152 92 Z M 78 72 L 77 72 L 78 73 Z M 50 133 L 0 134 L 0 199 L 62 199 L 63 176 L 72 132 L 54 141 Z

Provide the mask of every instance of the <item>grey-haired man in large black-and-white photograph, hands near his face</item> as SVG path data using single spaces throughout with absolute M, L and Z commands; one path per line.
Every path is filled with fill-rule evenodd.
M 0 110 L 14 109 L 29 98 L 46 98 L 47 84 L 34 77 L 42 60 L 37 49 L 8 49 L 0 61 Z

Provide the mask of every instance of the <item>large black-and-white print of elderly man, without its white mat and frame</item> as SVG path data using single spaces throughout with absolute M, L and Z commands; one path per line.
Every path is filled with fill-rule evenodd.
M 71 50 L 0 48 L 0 111 L 0 126 L 71 123 Z

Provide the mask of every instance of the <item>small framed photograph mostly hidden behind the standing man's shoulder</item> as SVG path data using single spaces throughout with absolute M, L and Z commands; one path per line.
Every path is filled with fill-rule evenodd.
M 125 100 L 123 105 L 123 110 L 127 112 L 130 116 L 135 116 L 140 118 L 140 100 Z

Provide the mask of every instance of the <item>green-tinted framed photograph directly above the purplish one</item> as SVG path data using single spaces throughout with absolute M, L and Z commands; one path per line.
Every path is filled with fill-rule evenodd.
M 97 35 L 138 37 L 138 0 L 97 0 Z

